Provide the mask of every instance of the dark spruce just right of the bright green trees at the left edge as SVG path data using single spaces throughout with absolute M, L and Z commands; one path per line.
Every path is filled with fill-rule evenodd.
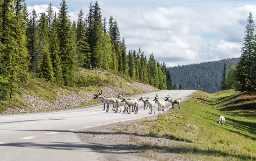
M 34 73 L 34 70 L 40 65 L 39 44 L 38 44 L 38 16 L 33 9 L 32 14 L 28 20 L 26 36 L 27 36 L 27 49 L 31 57 L 29 71 Z

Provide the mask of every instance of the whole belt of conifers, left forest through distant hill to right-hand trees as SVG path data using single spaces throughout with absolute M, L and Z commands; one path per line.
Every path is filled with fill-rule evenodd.
M 101 14 L 91 2 L 71 22 L 65 0 L 59 13 L 49 3 L 45 13 L 28 13 L 25 0 L 0 0 L 0 100 L 12 98 L 20 84 L 40 78 L 80 86 L 81 68 L 102 68 L 158 89 L 202 90 L 213 93 L 256 88 L 255 24 L 251 13 L 241 57 L 167 67 L 138 49 L 127 49 L 116 19 Z M 147 53 L 147 55 L 149 55 Z

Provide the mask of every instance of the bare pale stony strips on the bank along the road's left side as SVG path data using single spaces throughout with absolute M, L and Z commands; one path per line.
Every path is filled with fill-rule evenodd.
M 115 96 L 119 94 L 119 92 L 126 92 L 126 93 L 134 93 L 133 90 L 128 88 L 128 86 L 133 86 L 134 89 L 141 91 L 141 92 L 149 92 L 149 91 L 156 91 L 158 89 L 138 82 L 132 83 L 125 83 L 122 88 L 118 86 L 110 86 L 105 87 L 102 90 L 104 96 Z M 27 94 L 23 94 L 23 103 L 25 104 L 24 107 L 18 108 L 6 108 L 6 111 L 3 111 L 2 114 L 15 114 L 15 113 L 31 113 L 31 112 L 43 112 L 43 111 L 53 111 L 58 109 L 67 109 L 81 106 L 84 103 L 89 103 L 94 94 L 90 92 L 79 92 L 73 94 L 63 94 L 61 92 L 57 92 L 56 95 L 58 96 L 56 100 L 49 102 L 47 100 L 42 100 L 36 96 L 30 96 Z

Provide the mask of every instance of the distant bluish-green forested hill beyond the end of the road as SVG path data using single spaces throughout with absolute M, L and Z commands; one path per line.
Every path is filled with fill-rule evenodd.
M 182 84 L 186 90 L 201 90 L 214 93 L 221 90 L 221 80 L 224 62 L 229 71 L 232 65 L 236 65 L 239 58 L 223 59 L 215 62 L 204 62 L 189 65 L 168 67 L 173 84 Z

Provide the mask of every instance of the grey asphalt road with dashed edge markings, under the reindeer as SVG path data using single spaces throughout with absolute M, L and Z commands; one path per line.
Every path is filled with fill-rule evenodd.
M 135 98 L 143 96 L 153 100 L 156 93 L 160 99 L 168 94 L 183 100 L 192 92 L 193 90 L 161 90 L 139 94 Z M 169 106 L 171 104 L 166 102 L 166 107 Z M 98 104 L 51 112 L 0 116 L 0 160 L 98 160 L 97 153 L 77 137 L 77 131 L 150 116 L 148 109 L 143 110 L 144 104 L 141 101 L 138 114 L 114 113 L 111 111 L 112 107 L 109 106 L 108 113 L 102 111 L 103 104 Z M 121 109 L 123 111 L 124 107 L 121 106 Z M 158 114 L 157 110 L 158 105 L 155 107 L 155 114 Z

